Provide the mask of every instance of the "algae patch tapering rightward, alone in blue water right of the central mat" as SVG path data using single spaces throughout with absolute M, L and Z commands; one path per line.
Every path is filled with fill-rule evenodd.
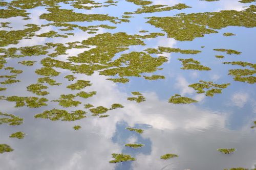
M 200 65 L 200 62 L 197 60 L 194 60 L 192 58 L 189 59 L 181 59 L 179 58 L 178 60 L 180 60 L 183 64 L 183 67 L 181 67 L 181 69 L 195 69 L 195 70 L 211 70 L 209 67 Z

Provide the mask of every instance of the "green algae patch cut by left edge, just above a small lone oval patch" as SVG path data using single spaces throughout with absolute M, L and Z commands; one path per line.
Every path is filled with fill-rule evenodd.
M 17 126 L 23 124 L 23 118 L 15 116 L 13 114 L 7 114 L 0 112 L 0 125 L 8 124 L 10 126 Z

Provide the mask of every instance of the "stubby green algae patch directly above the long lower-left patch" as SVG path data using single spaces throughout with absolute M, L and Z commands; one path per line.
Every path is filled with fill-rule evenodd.
M 74 101 L 73 99 L 76 97 L 74 94 L 61 94 L 59 100 L 53 100 L 52 102 L 59 102 L 59 105 L 62 107 L 72 107 L 78 106 L 81 104 L 79 101 Z

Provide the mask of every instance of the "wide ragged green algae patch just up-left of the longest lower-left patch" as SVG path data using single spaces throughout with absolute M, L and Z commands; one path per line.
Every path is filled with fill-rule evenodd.
M 37 98 L 37 97 L 20 97 L 20 96 L 8 96 L 6 99 L 8 102 L 15 102 L 15 107 L 27 106 L 30 108 L 38 108 L 42 106 L 47 106 L 45 102 L 48 101 L 46 98 Z

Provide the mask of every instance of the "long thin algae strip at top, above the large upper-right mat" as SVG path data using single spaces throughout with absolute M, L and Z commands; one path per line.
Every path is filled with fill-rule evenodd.
M 177 4 L 173 7 L 168 7 L 167 5 L 152 5 L 152 6 L 143 6 L 142 8 L 137 9 L 134 13 L 142 14 L 142 13 L 154 13 L 154 12 L 162 12 L 162 11 L 170 11 L 170 10 L 182 10 L 185 8 L 191 8 L 186 6 L 186 4 Z

